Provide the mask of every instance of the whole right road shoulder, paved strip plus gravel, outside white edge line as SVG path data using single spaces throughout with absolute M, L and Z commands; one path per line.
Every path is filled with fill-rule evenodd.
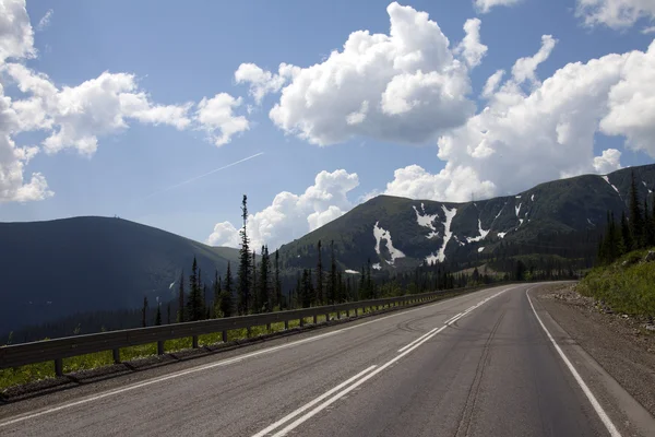
M 598 311 L 571 285 L 539 286 L 529 295 L 547 329 L 622 434 L 655 435 L 655 335 L 621 316 Z

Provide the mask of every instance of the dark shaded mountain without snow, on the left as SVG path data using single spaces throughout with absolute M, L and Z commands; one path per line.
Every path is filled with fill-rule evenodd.
M 75 312 L 140 308 L 177 296 L 193 261 L 211 284 L 238 250 L 121 218 L 0 223 L 0 333 Z M 188 290 L 187 290 L 188 292 Z

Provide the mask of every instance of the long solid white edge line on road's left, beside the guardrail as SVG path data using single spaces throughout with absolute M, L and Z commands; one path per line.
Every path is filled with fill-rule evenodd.
M 485 291 L 488 292 L 490 288 L 480 290 L 480 292 L 485 292 Z M 479 293 L 479 292 L 474 292 L 474 293 Z M 315 341 L 315 340 L 321 340 L 321 339 L 324 339 L 326 336 L 331 336 L 331 335 L 335 335 L 335 334 L 341 333 L 341 332 L 348 331 L 350 329 L 360 328 L 360 327 L 364 327 L 364 326 L 369 324 L 369 323 L 376 323 L 376 322 L 379 322 L 379 321 L 382 321 L 382 320 L 385 320 L 385 319 L 390 319 L 392 317 L 402 316 L 402 315 L 405 315 L 405 314 L 408 314 L 408 312 L 414 312 L 414 311 L 419 311 L 419 310 L 422 310 L 422 309 L 428 309 L 428 308 L 431 308 L 431 307 L 437 306 L 437 305 L 442 305 L 442 304 L 445 304 L 445 303 L 457 302 L 457 300 L 461 300 L 461 299 L 463 299 L 465 297 L 471 297 L 471 294 L 466 294 L 464 296 L 453 297 L 452 299 L 439 300 L 439 302 L 436 302 L 434 304 L 431 304 L 431 305 L 421 305 L 418 308 L 413 308 L 413 309 L 407 309 L 405 311 L 395 312 L 395 314 L 392 314 L 390 316 L 380 317 L 379 319 L 366 321 L 364 323 L 354 324 L 354 326 L 347 327 L 347 328 L 342 328 L 342 329 L 338 329 L 336 331 L 325 332 L 325 333 L 320 334 L 320 335 L 314 335 L 314 336 L 310 336 L 308 339 L 302 339 L 302 340 L 298 340 L 298 341 L 295 341 L 295 342 L 291 342 L 291 343 L 282 344 L 279 346 L 273 346 L 273 347 L 264 349 L 264 350 L 261 350 L 261 351 L 252 352 L 252 353 L 249 353 L 249 354 L 239 355 L 237 357 L 229 358 L 229 359 L 224 359 L 224 361 L 221 361 L 221 362 L 217 362 L 217 363 L 205 364 L 205 365 L 202 365 L 202 366 L 192 367 L 190 369 L 180 370 L 178 373 L 169 374 L 169 375 L 164 376 L 164 377 L 148 379 L 146 381 L 138 382 L 138 383 L 134 383 L 132 386 L 127 386 L 127 387 L 123 387 L 121 389 L 110 390 L 110 391 L 107 391 L 107 392 L 104 392 L 104 393 L 100 393 L 100 394 L 96 394 L 96 395 L 93 395 L 93 397 L 81 399 L 79 401 L 74 401 L 74 402 L 70 402 L 70 403 L 64 403 L 64 404 L 59 405 L 59 406 L 53 406 L 51 409 L 43 410 L 43 411 L 39 411 L 39 412 L 36 412 L 36 413 L 32 413 L 32 414 L 25 414 L 25 415 L 22 415 L 22 416 L 17 416 L 17 417 L 14 417 L 14 418 L 5 421 L 5 422 L 0 422 L 0 427 L 8 426 L 8 425 L 13 425 L 15 423 L 20 423 L 20 422 L 27 421 L 27 420 L 31 420 L 31 418 L 39 417 L 39 416 L 43 416 L 43 415 L 46 415 L 46 414 L 56 413 L 56 412 L 61 411 L 61 410 L 66 410 L 66 409 L 72 408 L 72 406 L 78 406 L 78 405 L 82 405 L 82 404 L 85 404 L 85 403 L 88 403 L 88 402 L 97 401 L 98 399 L 108 398 L 110 395 L 124 393 L 126 391 L 131 391 L 131 390 L 140 389 L 142 387 L 147 387 L 147 386 L 151 386 L 153 383 L 166 381 L 166 380 L 174 379 L 174 378 L 179 378 L 181 376 L 186 376 L 186 375 L 190 375 L 190 374 L 195 374 L 198 371 L 207 370 L 207 369 L 212 369 L 212 368 L 219 367 L 219 366 L 226 366 L 228 364 L 239 363 L 239 362 L 241 362 L 243 359 L 251 358 L 253 356 L 259 356 L 259 355 L 267 354 L 267 353 L 271 353 L 271 352 L 279 351 L 279 350 L 283 350 L 283 349 L 293 347 L 293 346 L 296 346 L 296 345 L 299 345 L 299 344 L 309 343 L 309 342 L 312 342 L 312 341 Z

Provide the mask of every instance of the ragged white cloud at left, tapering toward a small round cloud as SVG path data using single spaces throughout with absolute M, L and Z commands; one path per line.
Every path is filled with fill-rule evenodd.
M 160 106 L 140 91 L 133 74 L 104 72 L 78 86 L 59 90 L 45 74 L 19 63 L 8 63 L 3 71 L 28 98 L 13 106 L 22 130 L 51 131 L 43 145 L 55 153 L 67 147 L 92 155 L 98 137 L 123 131 L 127 119 L 153 125 L 189 126 L 190 104 Z

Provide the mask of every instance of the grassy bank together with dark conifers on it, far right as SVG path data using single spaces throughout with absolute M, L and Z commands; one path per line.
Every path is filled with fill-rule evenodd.
M 608 213 L 598 262 L 577 285 L 580 294 L 594 297 L 611 310 L 655 317 L 655 202 L 643 206 L 636 196 L 634 175 L 629 216 L 620 222 Z

